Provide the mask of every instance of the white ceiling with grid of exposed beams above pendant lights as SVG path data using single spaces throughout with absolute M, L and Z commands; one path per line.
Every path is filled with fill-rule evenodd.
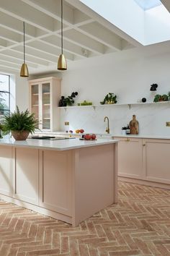
M 0 0 L 0 71 L 19 73 L 23 62 L 23 21 L 30 74 L 57 70 L 61 54 L 61 0 Z M 79 0 L 63 1 L 63 24 L 68 64 L 140 46 Z

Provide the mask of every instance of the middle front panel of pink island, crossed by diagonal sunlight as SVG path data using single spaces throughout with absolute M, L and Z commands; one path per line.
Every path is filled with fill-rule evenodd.
M 38 204 L 38 150 L 15 148 L 13 168 L 13 197 L 24 202 Z

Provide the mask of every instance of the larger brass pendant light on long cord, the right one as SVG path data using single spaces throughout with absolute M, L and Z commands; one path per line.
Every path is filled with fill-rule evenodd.
M 66 70 L 67 62 L 63 55 L 63 0 L 61 0 L 61 55 L 58 59 L 58 70 Z

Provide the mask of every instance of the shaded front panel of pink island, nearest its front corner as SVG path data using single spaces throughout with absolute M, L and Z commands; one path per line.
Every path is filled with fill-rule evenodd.
M 40 206 L 71 216 L 71 150 L 40 150 Z

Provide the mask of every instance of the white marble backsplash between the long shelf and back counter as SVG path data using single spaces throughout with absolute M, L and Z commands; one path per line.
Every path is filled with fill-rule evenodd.
M 85 132 L 104 133 L 107 122 L 104 116 L 109 117 L 109 128 L 112 135 L 121 135 L 121 128 L 129 124 L 133 114 L 139 121 L 139 135 L 170 135 L 170 102 L 98 106 L 88 108 L 61 108 L 61 130 L 64 131 L 64 122 L 69 121 L 69 129 L 84 129 Z

